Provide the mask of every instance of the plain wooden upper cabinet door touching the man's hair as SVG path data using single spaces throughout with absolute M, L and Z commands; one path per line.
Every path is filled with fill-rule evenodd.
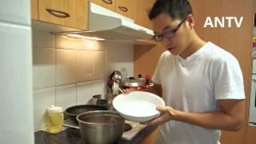
M 136 4 L 136 10 L 134 14 L 135 23 L 140 26 L 144 26 L 153 30 L 152 23 L 148 18 L 148 13 L 153 7 L 155 0 L 139 0 Z

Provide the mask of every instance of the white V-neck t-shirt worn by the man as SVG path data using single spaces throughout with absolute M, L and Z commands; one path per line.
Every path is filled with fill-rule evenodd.
M 242 71 L 232 54 L 207 42 L 183 59 L 169 51 L 158 61 L 152 81 L 162 86 L 166 106 L 186 112 L 218 110 L 218 99 L 244 99 Z M 220 130 L 170 121 L 159 126 L 158 143 L 218 144 Z

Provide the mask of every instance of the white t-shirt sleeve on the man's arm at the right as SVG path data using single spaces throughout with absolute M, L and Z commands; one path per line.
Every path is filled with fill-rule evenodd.
M 214 67 L 215 99 L 244 99 L 242 70 L 238 60 L 229 55 L 227 58 L 219 59 Z

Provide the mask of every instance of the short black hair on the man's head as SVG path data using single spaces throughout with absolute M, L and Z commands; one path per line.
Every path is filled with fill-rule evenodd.
M 150 20 L 153 20 L 162 13 L 169 14 L 174 19 L 183 19 L 188 14 L 193 14 L 188 0 L 157 0 L 148 16 Z

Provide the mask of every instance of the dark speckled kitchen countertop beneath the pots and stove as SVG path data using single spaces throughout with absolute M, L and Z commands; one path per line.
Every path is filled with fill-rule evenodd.
M 142 141 L 157 126 L 146 126 L 130 141 L 120 140 L 117 144 L 136 144 Z M 58 134 L 50 134 L 40 130 L 34 134 L 35 144 L 84 144 L 78 129 L 68 128 Z

